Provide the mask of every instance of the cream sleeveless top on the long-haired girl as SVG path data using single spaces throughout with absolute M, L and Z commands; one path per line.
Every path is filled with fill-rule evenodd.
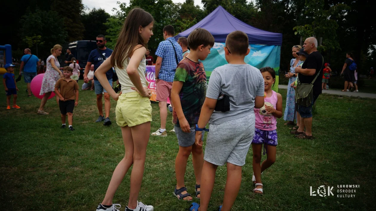
M 135 85 L 133 85 L 132 81 L 130 81 L 129 75 L 127 73 L 127 66 L 128 66 L 129 60 L 130 60 L 130 58 L 123 61 L 123 68 L 122 69 L 119 69 L 115 65 L 115 71 L 116 71 L 116 74 L 119 78 L 119 82 L 121 84 L 121 91 L 123 93 L 135 92 L 135 90 L 131 89 L 131 87 L 135 87 Z M 145 77 L 145 72 L 146 72 L 145 56 L 143 57 L 143 60 L 140 62 L 139 66 L 137 68 L 137 72 L 138 72 L 138 75 L 140 76 L 142 86 L 148 87 L 149 82 L 146 80 L 146 77 Z

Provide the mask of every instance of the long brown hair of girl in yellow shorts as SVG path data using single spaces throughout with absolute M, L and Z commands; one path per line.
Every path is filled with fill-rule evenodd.
M 123 68 L 123 62 L 128 59 L 137 45 L 147 48 L 144 39 L 138 32 L 139 26 L 146 27 L 154 21 L 149 12 L 141 8 L 134 8 L 128 13 L 121 28 L 114 52 L 111 54 L 111 65 Z M 141 47 L 139 47 L 141 48 Z M 115 65 L 116 64 L 116 65 Z

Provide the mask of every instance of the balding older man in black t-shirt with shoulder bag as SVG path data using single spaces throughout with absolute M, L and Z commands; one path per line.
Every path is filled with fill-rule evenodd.
M 300 125 L 295 134 L 300 134 L 299 138 L 312 138 L 312 106 L 318 95 L 321 94 L 321 78 L 323 76 L 324 58 L 317 51 L 317 39 L 308 37 L 304 41 L 304 51 L 309 55 L 304 61 L 302 67 L 296 67 L 295 72 L 299 73 L 299 81 L 302 84 L 311 84 L 313 80 L 313 101 L 309 106 L 298 105 L 300 114 Z M 317 76 L 318 75 L 318 76 Z M 317 76 L 317 77 L 316 77 Z M 315 79 L 316 78 L 316 79 Z M 306 131 L 304 132 L 304 127 Z

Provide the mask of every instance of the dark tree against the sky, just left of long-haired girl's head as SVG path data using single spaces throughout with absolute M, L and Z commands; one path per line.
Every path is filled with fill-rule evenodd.
M 81 15 L 82 24 L 85 26 L 84 40 L 94 40 L 99 34 L 106 34 L 108 25 L 105 23 L 111 16 L 104 9 L 93 8 Z

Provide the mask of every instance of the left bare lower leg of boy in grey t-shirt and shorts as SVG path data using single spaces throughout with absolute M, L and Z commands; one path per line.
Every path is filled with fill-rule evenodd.
M 201 197 L 200 197 L 200 208 L 199 211 L 207 211 L 209 206 L 209 201 L 214 188 L 215 181 L 215 171 L 217 171 L 217 165 L 207 162 L 204 160 L 204 165 L 202 167 L 201 174 Z

